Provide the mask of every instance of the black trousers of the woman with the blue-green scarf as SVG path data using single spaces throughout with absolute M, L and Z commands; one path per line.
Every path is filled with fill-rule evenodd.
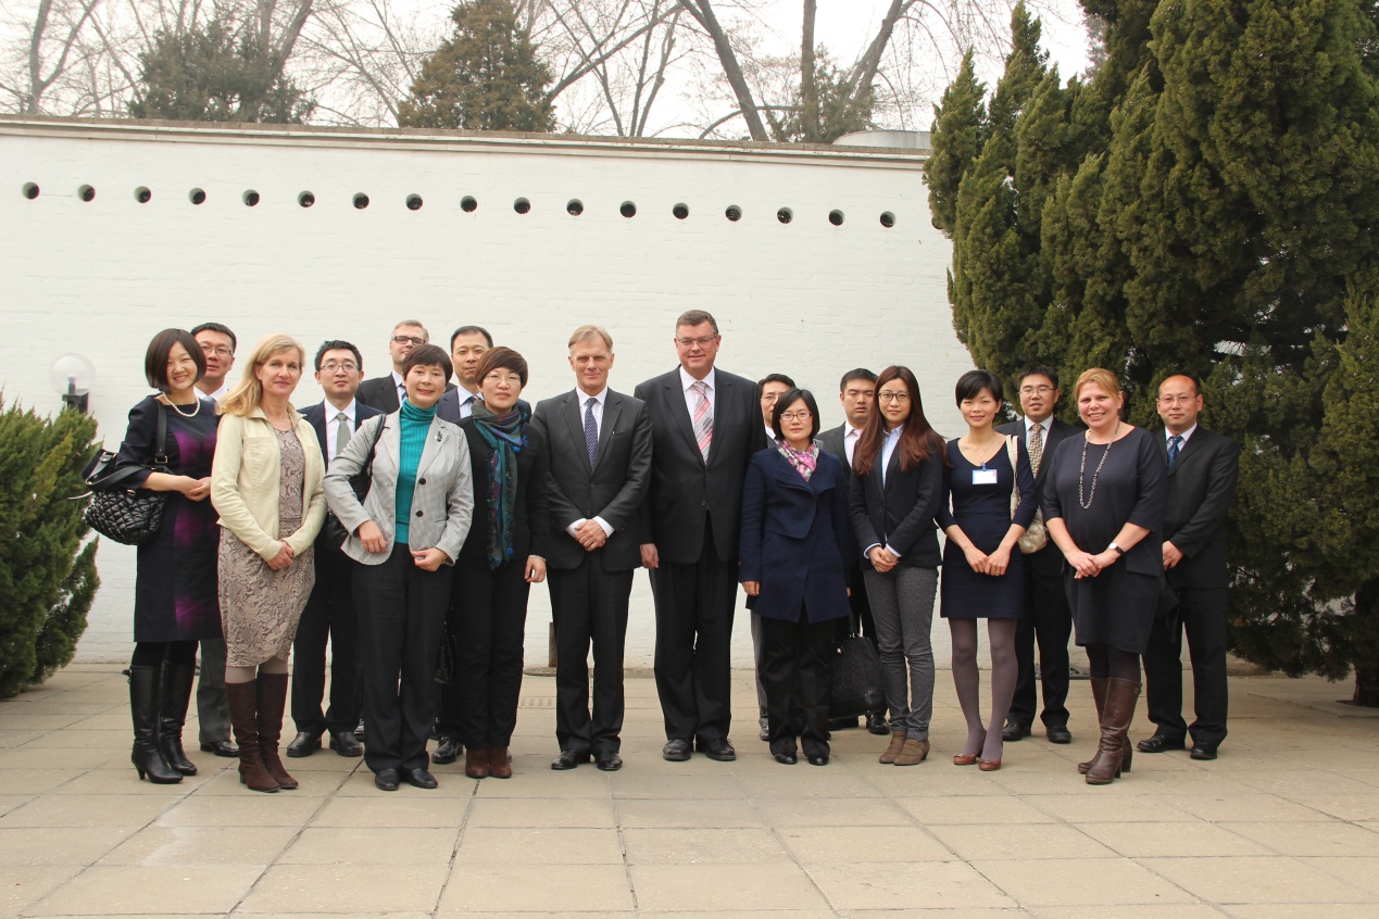
M 487 558 L 455 562 L 450 634 L 454 683 L 443 689 L 440 733 L 466 750 L 506 747 L 517 727 L 523 641 L 527 630 L 527 557 L 490 570 Z

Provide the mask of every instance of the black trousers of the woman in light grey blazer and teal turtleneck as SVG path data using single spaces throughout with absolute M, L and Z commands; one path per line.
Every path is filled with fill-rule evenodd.
M 436 716 L 436 663 L 454 569 L 416 568 L 407 546 L 354 566 L 370 769 L 425 769 Z

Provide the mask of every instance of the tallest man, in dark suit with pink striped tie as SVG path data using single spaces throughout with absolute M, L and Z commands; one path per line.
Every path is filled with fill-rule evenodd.
M 634 393 L 651 416 L 641 564 L 656 605 L 661 755 L 672 762 L 690 759 L 692 741 L 710 759 L 736 759 L 728 726 L 742 482 L 767 438 L 756 386 L 713 365 L 721 340 L 713 316 L 684 313 L 674 338 L 680 366 Z

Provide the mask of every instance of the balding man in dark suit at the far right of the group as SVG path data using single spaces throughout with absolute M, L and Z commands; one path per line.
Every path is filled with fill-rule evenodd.
M 1216 759 L 1226 739 L 1226 514 L 1236 500 L 1240 446 L 1197 424 L 1202 394 L 1197 380 L 1169 376 L 1158 386 L 1168 463 L 1164 504 L 1164 570 L 1178 608 L 1149 632 L 1145 683 L 1149 719 L 1157 730 L 1139 741 L 1147 754 L 1182 750 L 1193 737 L 1193 759 Z M 1183 631 L 1193 659 L 1191 725 L 1183 722 Z

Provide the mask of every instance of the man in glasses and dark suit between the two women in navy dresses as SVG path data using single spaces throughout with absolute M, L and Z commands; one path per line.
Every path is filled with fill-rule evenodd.
M 1058 371 L 1052 366 L 1036 365 L 1026 369 L 1015 384 L 1020 394 L 1018 422 L 1001 424 L 1001 434 L 1018 434 L 1025 438 L 1025 448 L 1034 471 L 1034 493 L 1040 500 L 1044 491 L 1044 457 L 1054 455 L 1054 448 L 1065 437 L 1074 437 L 1076 427 L 1054 417 L 1058 405 Z M 1005 740 L 1020 740 L 1030 736 L 1038 699 L 1034 692 L 1034 643 L 1038 642 L 1038 682 L 1044 690 L 1045 736 L 1055 744 L 1073 743 L 1067 730 L 1067 639 L 1073 634 L 1073 613 L 1067 608 L 1067 592 L 1063 588 L 1063 554 L 1054 540 L 1037 553 L 1025 557 L 1026 609 L 1029 613 L 1015 630 L 1015 659 L 1019 675 L 1015 678 L 1015 699 L 1011 700 L 1011 714 L 1005 719 L 1001 736 Z

